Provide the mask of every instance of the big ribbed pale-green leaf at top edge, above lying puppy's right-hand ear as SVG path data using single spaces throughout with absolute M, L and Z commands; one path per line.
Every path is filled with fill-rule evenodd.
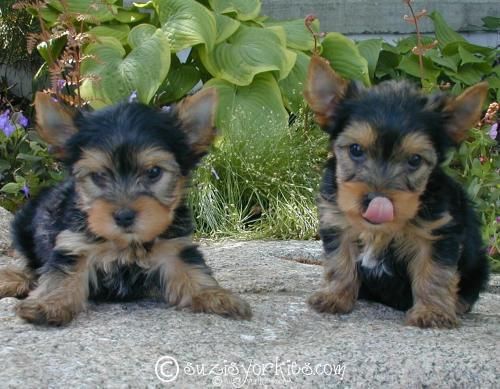
M 206 7 L 195 0 L 153 0 L 153 4 L 173 52 L 198 44 L 212 51 L 217 26 L 215 16 Z

